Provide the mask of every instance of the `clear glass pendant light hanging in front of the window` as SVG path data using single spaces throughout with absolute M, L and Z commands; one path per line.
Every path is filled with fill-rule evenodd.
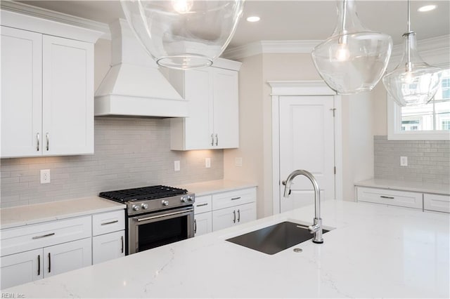
M 387 92 L 400 106 L 425 105 L 439 88 L 441 70 L 425 63 L 417 50 L 416 32 L 411 31 L 408 0 L 408 32 L 403 34 L 405 50 L 397 67 L 383 77 Z

